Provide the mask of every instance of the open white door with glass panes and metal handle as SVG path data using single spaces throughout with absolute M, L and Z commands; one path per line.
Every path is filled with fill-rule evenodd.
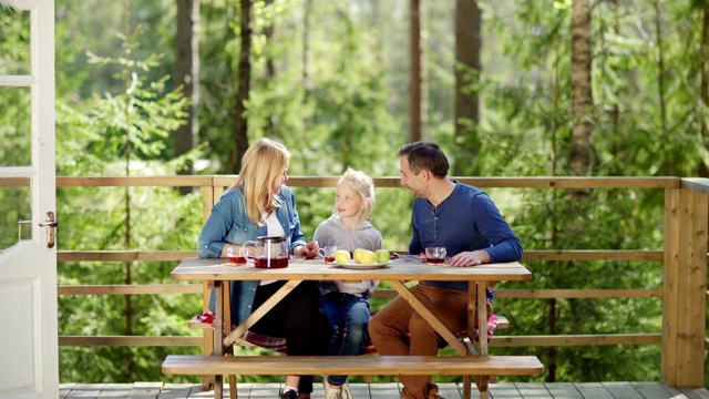
M 55 399 L 56 246 L 49 245 L 51 227 L 40 226 L 55 213 L 54 0 L 0 0 L 2 4 L 0 12 L 9 16 L 2 21 L 12 25 L 3 35 L 21 27 L 19 41 L 27 49 L 16 47 L 0 57 L 0 113 L 6 115 L 0 190 L 6 205 L 12 203 L 31 222 L 19 236 L 4 217 L 11 212 L 0 222 L 0 397 Z M 17 242 L 8 244 L 8 236 Z

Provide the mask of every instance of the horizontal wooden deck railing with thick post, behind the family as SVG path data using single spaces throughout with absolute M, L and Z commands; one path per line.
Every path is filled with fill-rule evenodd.
M 203 193 L 203 217 L 235 176 L 58 177 L 58 187 L 193 186 Z M 662 298 L 662 331 L 627 335 L 495 336 L 492 346 L 661 345 L 662 382 L 703 386 L 707 291 L 707 228 L 709 180 L 678 177 L 456 177 L 481 188 L 655 188 L 665 191 L 665 245 L 658 250 L 525 250 L 523 260 L 638 260 L 664 262 L 661 287 L 643 289 L 497 289 L 496 298 Z M 0 180 L 0 186 L 23 185 Z M 291 187 L 333 187 L 338 177 L 290 176 Z M 29 182 L 28 182 L 29 183 Z M 398 187 L 398 177 L 378 177 L 378 187 Z M 194 250 L 61 250 L 58 262 L 181 260 Z M 59 295 L 203 294 L 195 285 L 60 286 Z M 208 331 L 207 331 L 208 334 Z M 205 337 L 59 337 L 62 346 L 208 346 Z

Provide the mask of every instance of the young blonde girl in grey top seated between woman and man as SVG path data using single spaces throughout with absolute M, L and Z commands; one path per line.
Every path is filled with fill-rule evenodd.
M 373 208 L 374 182 L 364 173 L 348 168 L 337 184 L 332 216 L 318 226 L 312 239 L 349 252 L 382 248 L 381 234 L 369 222 Z M 369 342 L 369 297 L 378 284 L 379 280 L 320 282 L 320 307 L 328 315 L 331 329 L 330 355 L 362 352 Z M 322 386 L 326 399 L 352 399 L 347 376 L 328 376 Z

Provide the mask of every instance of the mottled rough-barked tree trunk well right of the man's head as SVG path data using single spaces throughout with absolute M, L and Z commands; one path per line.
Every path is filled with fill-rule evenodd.
M 589 175 L 593 167 L 594 126 L 590 89 L 590 7 L 589 0 L 574 0 L 572 21 L 572 111 L 574 129 L 569 168 L 573 175 Z M 580 194 L 580 193 L 579 193 Z

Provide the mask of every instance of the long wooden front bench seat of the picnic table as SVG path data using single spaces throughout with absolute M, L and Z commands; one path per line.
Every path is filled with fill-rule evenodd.
M 520 375 L 544 371 L 535 356 L 195 356 L 168 355 L 167 375 Z

